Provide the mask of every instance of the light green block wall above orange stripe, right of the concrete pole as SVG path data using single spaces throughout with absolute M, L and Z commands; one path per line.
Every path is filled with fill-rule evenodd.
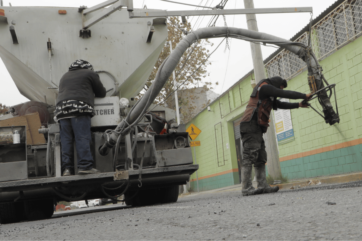
M 330 126 L 311 109 L 292 109 L 295 141 L 279 146 L 280 158 L 361 139 L 362 86 L 359 82 L 362 77 L 361 45 L 362 38 L 358 38 L 319 62 L 324 69 L 323 73 L 327 81 L 336 83 L 340 123 Z M 288 89 L 309 92 L 308 85 L 305 84 L 306 79 L 306 72 L 299 74 L 288 82 Z M 301 83 L 304 85 L 301 86 Z M 331 102 L 336 110 L 334 96 Z M 312 102 L 312 106 L 317 107 L 321 112 L 317 101 Z

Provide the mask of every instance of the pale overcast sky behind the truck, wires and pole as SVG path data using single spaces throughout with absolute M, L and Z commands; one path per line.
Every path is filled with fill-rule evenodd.
M 221 0 L 173 0 L 182 3 L 215 7 Z M 79 7 L 86 5 L 92 7 L 102 3 L 102 0 L 62 0 L 62 1 L 45 1 L 45 0 L 12 0 L 12 6 L 50 6 L 50 7 Z M 313 7 L 313 19 L 320 15 L 325 9 L 331 6 L 335 0 L 254 0 L 255 8 L 282 8 L 282 7 Z M 8 6 L 8 0 L 4 0 L 4 6 Z M 134 8 L 142 8 L 144 5 L 148 9 L 166 9 L 166 10 L 194 10 L 196 7 L 169 3 L 161 0 L 134 0 Z M 225 9 L 242 9 L 244 8 L 243 0 L 228 0 Z M 202 9 L 202 8 L 199 8 Z M 193 29 L 206 27 L 212 16 L 190 17 L 189 21 Z M 229 27 L 238 27 L 247 29 L 245 15 L 227 15 L 226 23 Z M 260 32 L 275 35 L 284 39 L 290 39 L 305 27 L 311 18 L 310 13 L 275 13 L 275 14 L 257 14 L 257 24 Z M 220 16 L 216 26 L 224 26 L 223 17 Z M 212 39 L 213 47 L 210 52 L 214 51 L 222 38 Z M 222 94 L 241 77 L 253 69 L 250 43 L 239 40 L 229 39 L 230 51 L 226 48 L 224 41 L 220 47 L 210 56 L 211 66 L 208 67 L 210 76 L 205 81 L 219 82 L 214 91 Z M 263 59 L 266 59 L 276 48 L 261 46 Z M 0 103 L 7 106 L 26 102 L 13 83 L 3 61 L 0 60 Z

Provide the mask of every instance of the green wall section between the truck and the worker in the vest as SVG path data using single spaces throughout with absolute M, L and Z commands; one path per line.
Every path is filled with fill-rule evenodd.
M 237 178 L 234 178 L 235 175 L 233 175 L 232 178 L 226 178 L 225 180 L 227 181 L 222 179 L 225 178 L 224 175 L 227 175 L 225 172 L 238 173 L 232 121 L 239 118 L 244 112 L 252 91 L 250 85 L 251 78 L 252 76 L 249 75 L 246 81 L 234 85 L 225 95 L 210 104 L 210 111 L 205 109 L 200 112 L 186 126 L 188 128 L 192 123 L 201 130 L 201 133 L 195 138 L 195 141 L 201 141 L 201 146 L 195 147 L 195 152 L 196 163 L 199 164 L 198 177 L 205 179 L 205 181 L 202 181 L 204 190 L 210 190 L 212 189 L 211 187 L 215 187 L 214 180 L 221 180 L 222 186 L 240 183 L 238 174 L 236 175 Z M 216 147 L 216 142 L 218 143 L 218 148 Z M 191 148 L 191 150 L 195 163 L 194 149 Z M 209 178 L 212 181 L 206 181 Z M 195 182 L 195 173 L 191 175 L 191 180 L 193 180 L 191 183 Z

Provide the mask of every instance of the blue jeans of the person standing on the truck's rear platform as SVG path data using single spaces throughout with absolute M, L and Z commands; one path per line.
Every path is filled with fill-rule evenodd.
M 77 116 L 59 120 L 60 143 L 62 144 L 62 173 L 66 168 L 74 168 L 73 138 L 77 150 L 78 171 L 93 168 L 93 157 L 90 152 L 92 136 L 90 135 L 90 116 Z

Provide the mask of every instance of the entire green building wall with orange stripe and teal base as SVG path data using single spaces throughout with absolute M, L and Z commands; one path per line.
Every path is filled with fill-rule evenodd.
M 319 64 L 327 81 L 336 83 L 341 121 L 330 126 L 310 108 L 291 110 L 295 140 L 278 147 L 282 175 L 289 179 L 362 171 L 362 38 L 346 44 Z M 248 75 L 241 79 L 210 105 L 211 111 L 204 109 L 188 123 L 202 130 L 196 138 L 201 141 L 201 146 L 196 147 L 200 190 L 239 184 L 232 121 L 245 110 L 252 92 L 251 78 Z M 310 92 L 307 71 L 288 81 L 287 90 Z M 331 102 L 336 110 L 334 96 Z M 317 100 L 311 104 L 321 112 Z M 194 173 L 193 187 L 195 180 Z

